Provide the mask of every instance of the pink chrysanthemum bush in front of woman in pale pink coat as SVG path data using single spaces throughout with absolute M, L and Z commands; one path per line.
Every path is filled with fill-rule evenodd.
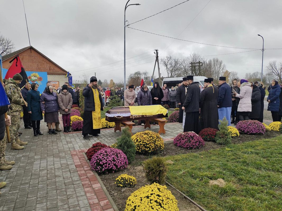
M 265 126 L 257 120 L 244 120 L 239 121 L 236 125 L 239 133 L 246 133 L 246 134 L 264 134 L 265 133 Z

